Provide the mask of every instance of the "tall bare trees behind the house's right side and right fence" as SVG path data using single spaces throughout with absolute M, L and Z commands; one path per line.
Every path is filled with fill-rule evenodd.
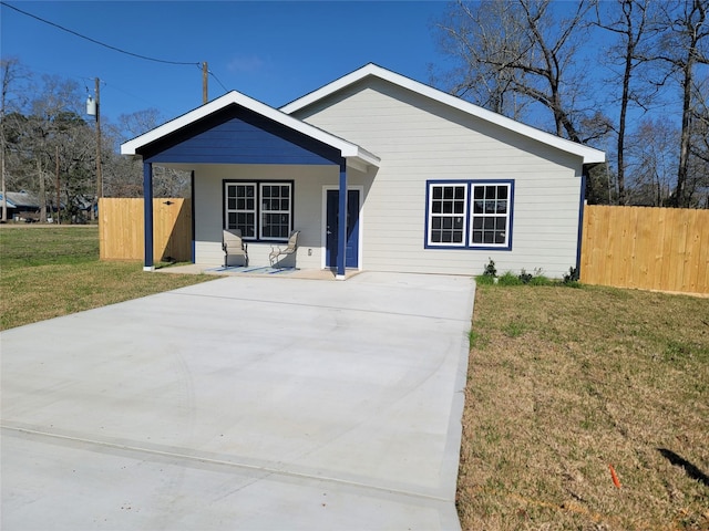
M 433 24 L 458 96 L 608 164 L 589 202 L 709 208 L 707 0 L 452 2 Z

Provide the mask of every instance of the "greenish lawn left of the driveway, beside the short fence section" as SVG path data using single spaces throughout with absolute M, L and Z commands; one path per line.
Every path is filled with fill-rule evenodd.
M 213 280 L 99 260 L 99 229 L 0 226 L 0 330 Z

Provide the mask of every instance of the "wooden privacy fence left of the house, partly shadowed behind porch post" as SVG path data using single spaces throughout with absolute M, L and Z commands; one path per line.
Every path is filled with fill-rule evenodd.
M 101 260 L 143 260 L 142 198 L 99 201 Z M 156 261 L 192 260 L 192 205 L 183 198 L 153 199 L 153 257 Z

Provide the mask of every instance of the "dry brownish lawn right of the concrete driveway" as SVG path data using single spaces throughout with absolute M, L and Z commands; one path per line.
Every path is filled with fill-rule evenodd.
M 709 529 L 709 300 L 481 285 L 471 344 L 464 529 Z

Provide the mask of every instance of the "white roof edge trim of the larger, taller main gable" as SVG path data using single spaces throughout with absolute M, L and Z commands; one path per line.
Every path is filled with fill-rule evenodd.
M 562 138 L 556 135 L 552 135 L 551 133 L 546 133 L 544 131 L 537 129 L 535 127 L 531 127 L 528 125 L 516 122 L 512 118 L 507 118 L 497 113 L 493 113 L 492 111 L 487 111 L 479 105 L 461 100 L 460 97 L 448 94 L 438 88 L 433 88 L 432 86 L 425 85 L 418 81 L 414 81 L 410 77 L 405 77 L 401 74 L 397 74 L 387 69 L 382 69 L 377 64 L 369 63 L 362 66 L 354 72 L 350 72 L 349 74 L 335 80 L 327 85 L 306 94 L 298 100 L 295 100 L 287 105 L 280 107 L 280 111 L 287 114 L 296 113 L 301 108 L 307 107 L 325 97 L 335 94 L 336 92 L 350 86 L 368 76 L 379 77 L 381 80 L 388 81 L 394 85 L 401 86 L 409 91 L 415 92 L 423 96 L 430 97 L 436 102 L 440 102 L 444 105 L 449 105 L 459 111 L 467 113 L 477 118 L 484 119 L 492 124 L 499 125 L 500 127 L 504 127 L 505 129 L 510 129 L 515 132 L 522 136 L 526 136 L 528 138 L 535 139 L 548 146 L 555 147 L 566 153 L 571 153 L 573 155 L 577 155 L 582 157 L 584 164 L 597 164 L 606 162 L 606 154 L 598 149 L 594 149 L 593 147 L 584 146 L 583 144 L 578 144 L 572 140 L 567 140 L 566 138 Z

